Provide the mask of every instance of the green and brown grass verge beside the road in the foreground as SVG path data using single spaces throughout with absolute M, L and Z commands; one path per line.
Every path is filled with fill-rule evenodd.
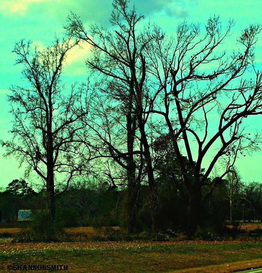
M 1 272 L 8 264 L 68 264 L 73 273 L 232 272 L 249 261 L 261 265 L 261 257 L 261 242 L 0 242 Z

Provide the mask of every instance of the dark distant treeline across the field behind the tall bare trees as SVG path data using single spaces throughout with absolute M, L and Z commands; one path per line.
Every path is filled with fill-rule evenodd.
M 158 209 L 156 228 L 158 230 L 186 231 L 189 214 L 185 193 L 178 187 L 182 181 L 172 181 L 168 172 L 158 178 Z M 45 192 L 39 192 L 45 195 Z M 184 195 L 186 194 L 186 196 Z M 135 231 L 151 229 L 151 216 L 148 201 L 150 190 L 142 185 L 139 192 L 139 208 L 136 215 Z M 77 226 L 120 226 L 127 229 L 126 221 L 127 189 L 116 189 L 108 183 L 99 185 L 84 184 L 71 186 L 64 195 L 56 200 L 56 221 L 63 227 Z M 25 181 L 14 180 L 6 190 L 0 193 L 2 219 L 6 222 L 17 218 L 19 209 L 31 209 L 32 212 L 45 210 L 45 203 L 32 193 Z M 202 213 L 202 225 L 221 227 L 226 220 L 262 221 L 262 184 L 242 183 L 234 175 L 228 175 L 223 183 L 214 190 L 205 202 Z

